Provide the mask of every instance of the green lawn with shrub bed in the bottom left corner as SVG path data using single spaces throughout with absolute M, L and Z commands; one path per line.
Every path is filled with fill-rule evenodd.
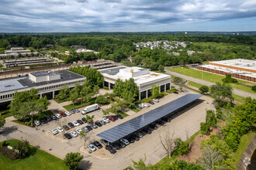
M 9 145 L 13 146 L 19 140 L 11 139 L 7 140 Z M 31 146 L 34 148 L 33 146 Z M 45 151 L 40 149 L 36 149 L 35 154 L 30 155 L 29 158 L 18 159 L 15 161 L 6 158 L 4 155 L 0 154 L 0 169 L 5 170 L 16 170 L 16 169 L 68 169 L 66 165 L 64 165 L 63 160 L 55 157 L 54 155 L 50 155 Z

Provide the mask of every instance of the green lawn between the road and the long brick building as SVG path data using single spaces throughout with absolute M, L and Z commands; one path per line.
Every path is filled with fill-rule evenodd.
M 214 74 L 214 73 L 208 73 L 208 72 L 204 72 L 201 70 L 195 70 L 195 69 L 188 69 L 188 68 L 182 68 L 182 67 L 177 67 L 177 68 L 170 68 L 168 70 L 177 72 L 177 73 L 182 73 L 185 74 L 187 76 L 192 76 L 195 77 L 197 79 L 203 79 L 209 82 L 213 82 L 213 83 L 222 83 L 222 79 L 225 76 L 221 76 L 219 74 Z M 234 89 L 238 89 L 238 90 L 244 90 L 250 93 L 256 93 L 255 91 L 251 90 L 251 86 L 254 86 L 255 83 L 251 83 L 251 82 L 247 82 L 247 81 L 243 81 L 243 80 L 238 80 L 238 83 L 230 83 L 230 86 L 233 87 Z

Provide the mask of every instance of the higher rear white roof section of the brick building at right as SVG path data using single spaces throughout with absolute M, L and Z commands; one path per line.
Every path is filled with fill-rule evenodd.
M 254 59 L 227 59 L 222 61 L 213 61 L 210 63 L 221 64 L 223 66 L 236 66 L 248 70 L 256 70 L 256 60 Z

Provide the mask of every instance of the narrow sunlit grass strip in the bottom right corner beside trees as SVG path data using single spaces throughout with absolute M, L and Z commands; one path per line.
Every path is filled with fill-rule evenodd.
M 244 134 L 244 136 L 242 136 L 242 138 L 241 138 L 241 141 L 240 141 L 237 151 L 232 153 L 231 157 L 234 159 L 236 168 L 240 161 L 240 158 L 244 154 L 245 149 L 250 144 L 251 139 L 254 138 L 255 134 L 256 134 L 255 132 L 250 132 L 248 134 Z

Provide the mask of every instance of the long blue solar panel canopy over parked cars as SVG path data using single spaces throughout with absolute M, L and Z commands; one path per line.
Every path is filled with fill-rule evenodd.
M 168 114 L 171 114 L 175 110 L 185 107 L 185 105 L 192 103 L 199 97 L 202 97 L 202 95 L 194 93 L 186 94 L 185 96 L 179 97 L 178 99 L 173 100 L 168 104 L 164 104 L 163 106 L 157 107 L 154 110 L 150 110 L 145 114 L 134 117 L 130 121 L 126 121 L 123 124 L 119 124 L 113 128 L 110 128 L 109 130 L 102 131 L 102 133 L 97 134 L 97 136 L 111 143 L 118 141 L 119 139 L 140 130 L 140 128 L 144 128 L 148 124 L 151 124 L 152 122 L 157 121 L 158 119 L 161 119 Z

